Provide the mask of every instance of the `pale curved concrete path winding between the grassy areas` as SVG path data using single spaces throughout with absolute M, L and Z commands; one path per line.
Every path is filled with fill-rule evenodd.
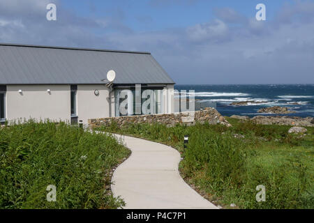
M 163 144 L 115 135 L 132 154 L 114 171 L 112 192 L 125 208 L 214 208 L 181 178 L 180 153 Z

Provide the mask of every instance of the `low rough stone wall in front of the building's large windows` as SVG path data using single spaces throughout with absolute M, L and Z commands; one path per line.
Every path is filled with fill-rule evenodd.
M 148 114 L 140 116 L 121 116 L 110 118 L 94 118 L 89 119 L 89 125 L 91 128 L 97 128 L 100 126 L 108 126 L 116 122 L 118 126 L 128 125 L 129 123 L 162 123 L 167 126 L 174 126 L 177 123 L 194 125 L 196 122 L 209 124 L 221 123 L 223 125 L 231 126 L 219 112 L 214 108 L 206 108 L 197 112 L 180 112 L 173 114 Z

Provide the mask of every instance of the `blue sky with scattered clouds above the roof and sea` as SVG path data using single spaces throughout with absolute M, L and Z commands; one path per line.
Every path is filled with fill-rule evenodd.
M 149 51 L 178 84 L 314 83 L 311 0 L 0 0 L 0 42 Z

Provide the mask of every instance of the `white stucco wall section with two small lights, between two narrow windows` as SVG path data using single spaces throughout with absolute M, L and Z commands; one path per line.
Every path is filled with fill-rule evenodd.
M 8 85 L 6 118 L 70 121 L 70 85 Z

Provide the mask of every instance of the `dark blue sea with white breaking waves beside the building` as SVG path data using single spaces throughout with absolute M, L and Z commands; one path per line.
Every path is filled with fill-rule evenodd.
M 314 84 L 268 84 L 268 85 L 175 85 L 177 90 L 195 90 L 200 102 L 215 102 L 223 116 L 233 114 L 257 116 L 262 107 L 289 107 L 297 113 L 289 116 L 314 116 Z M 245 106 L 230 105 L 232 102 L 252 100 L 262 104 Z M 294 105 L 297 104 L 297 105 Z M 271 114 L 262 114 L 271 115 Z

